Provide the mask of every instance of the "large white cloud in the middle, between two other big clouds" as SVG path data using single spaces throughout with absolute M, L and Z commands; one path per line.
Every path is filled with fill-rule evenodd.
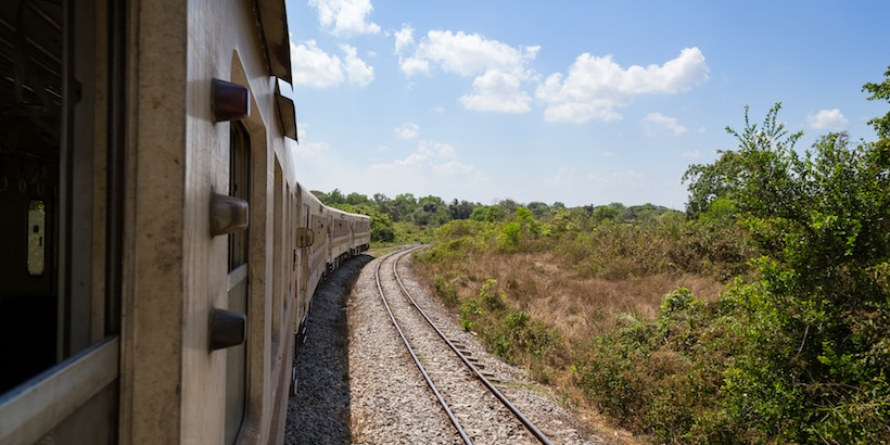
M 437 67 L 473 77 L 471 92 L 460 98 L 468 110 L 527 112 L 532 98 L 522 90 L 522 84 L 535 79 L 526 65 L 538 50 L 541 47 L 511 47 L 463 31 L 431 30 L 419 43 L 415 43 L 414 29 L 407 25 L 396 33 L 396 53 L 406 76 L 428 74 Z

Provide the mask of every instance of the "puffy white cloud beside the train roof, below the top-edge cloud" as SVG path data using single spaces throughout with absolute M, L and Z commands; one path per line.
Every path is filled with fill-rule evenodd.
M 341 44 L 343 59 L 325 52 L 315 40 L 291 42 L 293 85 L 312 88 L 335 87 L 348 79 L 349 84 L 367 87 L 374 79 L 373 67 L 358 58 L 357 50 Z

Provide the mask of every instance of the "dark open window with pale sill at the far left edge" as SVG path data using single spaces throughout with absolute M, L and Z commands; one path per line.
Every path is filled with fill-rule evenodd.
M 0 2 L 0 443 L 115 443 L 118 2 Z

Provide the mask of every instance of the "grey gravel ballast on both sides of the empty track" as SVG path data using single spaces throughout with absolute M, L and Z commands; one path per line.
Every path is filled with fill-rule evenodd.
M 288 444 L 461 443 L 425 386 L 393 329 L 374 281 L 380 259 L 360 255 L 345 262 L 317 289 L 298 348 L 296 395 L 289 400 Z M 472 351 L 505 394 L 555 444 L 601 440 L 560 406 L 550 391 L 520 369 L 484 352 L 473 335 L 449 323 L 450 315 L 429 298 L 399 265 L 405 285 L 446 334 Z M 475 443 L 484 443 L 474 441 Z

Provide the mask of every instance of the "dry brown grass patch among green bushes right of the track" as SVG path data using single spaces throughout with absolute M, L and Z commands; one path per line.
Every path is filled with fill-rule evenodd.
M 659 274 L 625 280 L 581 277 L 572 264 L 550 252 L 503 255 L 488 251 L 471 264 L 452 263 L 450 270 L 436 262 L 414 264 L 428 283 L 436 275 L 447 277 L 456 284 L 460 302 L 479 296 L 483 283 L 495 279 L 512 310 L 524 312 L 558 332 L 564 342 L 560 353 L 551 354 L 544 363 L 520 365 L 534 376 L 546 376 L 544 380 L 559 387 L 567 403 L 587 419 L 590 428 L 613 444 L 647 441 L 614 427 L 588 405 L 572 384 L 577 378 L 572 366 L 575 355 L 583 355 L 595 336 L 625 326 L 628 314 L 636 319 L 656 319 L 663 296 L 679 287 L 705 301 L 716 300 L 725 288 L 714 278 L 694 275 Z

